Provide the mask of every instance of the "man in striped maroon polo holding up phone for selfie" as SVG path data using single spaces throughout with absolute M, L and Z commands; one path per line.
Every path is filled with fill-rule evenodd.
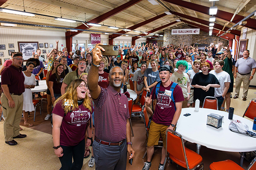
M 98 85 L 98 71 L 103 58 L 101 50 L 105 51 L 99 45 L 102 44 L 97 44 L 92 50 L 93 62 L 87 78 L 87 85 L 94 100 L 95 169 L 125 170 L 127 152 L 131 159 L 135 151 L 131 143 L 128 99 L 120 91 L 124 82 L 124 72 L 119 66 L 112 67 L 108 76 L 108 88 Z

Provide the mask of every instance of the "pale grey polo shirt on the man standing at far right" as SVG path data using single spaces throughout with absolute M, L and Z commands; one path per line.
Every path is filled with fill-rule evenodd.
M 248 74 L 252 71 L 253 68 L 256 68 L 255 59 L 248 57 L 244 59 L 243 57 L 238 59 L 235 65 L 237 68 L 238 73 L 240 74 Z

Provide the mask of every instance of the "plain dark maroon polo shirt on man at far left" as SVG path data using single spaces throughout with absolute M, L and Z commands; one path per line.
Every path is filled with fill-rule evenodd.
M 25 77 L 22 73 L 22 67 L 7 66 L 1 74 L 1 84 L 7 84 L 10 93 L 23 93 Z

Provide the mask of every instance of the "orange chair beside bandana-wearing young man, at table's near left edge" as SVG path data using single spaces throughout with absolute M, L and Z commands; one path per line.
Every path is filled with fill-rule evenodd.
M 163 163 L 163 169 L 167 159 L 171 159 L 177 165 L 187 168 L 187 170 L 194 170 L 199 166 L 202 166 L 200 170 L 204 169 L 203 158 L 186 148 L 182 136 L 170 129 L 166 131 L 166 158 Z

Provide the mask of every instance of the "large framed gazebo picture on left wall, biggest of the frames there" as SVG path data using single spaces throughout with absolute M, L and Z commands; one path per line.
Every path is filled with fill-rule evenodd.
M 19 51 L 23 54 L 23 59 L 27 60 L 33 55 L 33 51 L 37 51 L 38 42 L 18 42 Z

